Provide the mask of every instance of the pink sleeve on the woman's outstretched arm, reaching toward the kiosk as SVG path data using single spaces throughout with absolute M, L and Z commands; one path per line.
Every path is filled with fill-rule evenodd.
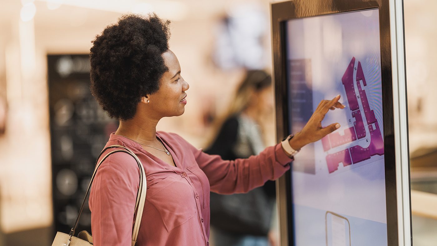
M 260 187 L 267 180 L 281 177 L 290 168 L 288 163 L 293 160 L 284 153 L 281 144 L 267 147 L 257 156 L 230 161 L 218 155 L 208 155 L 188 142 L 187 145 L 208 177 L 211 191 L 219 194 L 245 193 Z

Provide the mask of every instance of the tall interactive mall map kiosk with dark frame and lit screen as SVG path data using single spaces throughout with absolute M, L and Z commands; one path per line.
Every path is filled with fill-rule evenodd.
M 282 246 L 411 245 L 402 1 L 271 5 L 277 140 L 340 94 L 341 127 L 277 182 Z

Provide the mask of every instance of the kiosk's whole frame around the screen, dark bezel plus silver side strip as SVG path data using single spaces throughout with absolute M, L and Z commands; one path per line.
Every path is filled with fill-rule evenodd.
M 271 4 L 277 141 L 288 132 L 285 21 L 379 9 L 389 246 L 412 245 L 402 0 L 292 0 Z M 294 246 L 291 171 L 277 180 L 281 246 Z

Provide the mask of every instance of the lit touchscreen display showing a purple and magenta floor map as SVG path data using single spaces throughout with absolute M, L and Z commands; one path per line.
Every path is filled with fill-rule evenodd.
M 387 245 L 379 10 L 286 21 L 290 132 L 320 100 L 341 127 L 302 148 L 291 170 L 296 246 Z

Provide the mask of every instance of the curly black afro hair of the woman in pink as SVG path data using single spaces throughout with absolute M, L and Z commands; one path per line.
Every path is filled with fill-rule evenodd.
M 141 97 L 159 89 L 168 71 L 162 54 L 169 49 L 169 26 L 155 13 L 128 14 L 92 41 L 90 89 L 111 118 L 133 118 Z

